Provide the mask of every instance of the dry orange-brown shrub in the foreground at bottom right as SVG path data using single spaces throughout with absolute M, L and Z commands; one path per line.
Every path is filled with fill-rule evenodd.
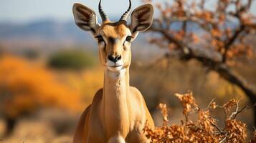
M 163 114 L 163 125 L 151 129 L 148 125 L 145 127 L 147 137 L 151 142 L 246 142 L 247 140 L 247 126 L 245 123 L 235 119 L 237 114 L 249 107 L 239 107 L 239 100 L 230 100 L 223 106 L 211 102 L 207 109 L 200 109 L 191 92 L 188 94 L 176 94 L 181 104 L 183 105 L 183 114 L 185 121 L 181 120 L 181 124 L 169 124 L 168 109 L 166 104 L 159 104 Z M 217 126 L 217 119 L 211 115 L 215 108 L 224 109 L 224 127 Z M 234 111 L 232 110 L 234 109 Z M 191 121 L 189 114 L 196 114 L 197 120 Z M 254 139 L 250 142 L 256 141 L 256 132 L 254 132 Z

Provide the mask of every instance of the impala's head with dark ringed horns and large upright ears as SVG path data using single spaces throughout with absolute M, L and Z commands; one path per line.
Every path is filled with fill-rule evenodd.
M 131 64 L 131 42 L 136 39 L 138 32 L 145 31 L 151 26 L 153 6 L 145 4 L 135 9 L 129 25 L 126 20 L 131 12 L 131 0 L 128 10 L 117 22 L 108 19 L 101 7 L 101 0 L 98 7 L 103 24 L 98 24 L 95 11 L 82 4 L 73 6 L 75 23 L 80 29 L 90 31 L 98 40 L 100 61 L 103 66 L 110 71 L 120 71 Z

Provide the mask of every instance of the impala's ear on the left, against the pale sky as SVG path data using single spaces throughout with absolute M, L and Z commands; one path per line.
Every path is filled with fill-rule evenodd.
M 91 10 L 87 6 L 82 4 L 74 4 L 73 14 L 75 18 L 75 24 L 85 31 L 91 31 L 93 35 L 98 30 L 98 21 L 95 11 Z

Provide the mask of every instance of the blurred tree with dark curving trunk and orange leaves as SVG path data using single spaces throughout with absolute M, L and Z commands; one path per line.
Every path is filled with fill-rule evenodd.
M 153 1 L 154 2 L 154 1 Z M 211 4 L 209 4 L 209 2 Z M 256 103 L 255 88 L 232 70 L 232 66 L 253 56 L 249 42 L 255 34 L 255 16 L 250 13 L 252 0 L 173 0 L 156 3 L 159 16 L 149 40 L 168 49 L 165 58 L 176 56 L 183 61 L 196 59 L 216 71 L 229 83 L 240 87 Z M 256 107 L 254 106 L 256 124 Z

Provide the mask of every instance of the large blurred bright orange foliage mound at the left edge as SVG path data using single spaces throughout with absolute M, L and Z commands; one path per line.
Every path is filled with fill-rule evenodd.
M 42 66 L 6 55 L 0 65 L 0 111 L 6 117 L 17 118 L 40 107 L 81 109 L 80 94 Z

